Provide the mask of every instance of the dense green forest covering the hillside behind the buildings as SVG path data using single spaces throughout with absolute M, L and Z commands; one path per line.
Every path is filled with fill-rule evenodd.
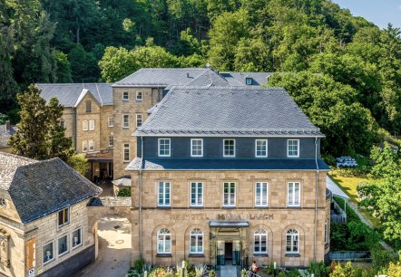
M 0 29 L 0 121 L 18 121 L 16 95 L 30 83 L 209 62 L 282 72 L 268 85 L 322 129 L 324 154 L 368 154 L 400 133 L 400 30 L 329 0 L 0 0 Z

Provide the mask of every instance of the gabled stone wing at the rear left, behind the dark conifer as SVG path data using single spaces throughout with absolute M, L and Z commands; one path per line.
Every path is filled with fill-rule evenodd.
M 78 153 L 91 163 L 86 177 L 113 177 L 112 87 L 108 83 L 38 83 L 41 96 L 57 98 L 64 106 L 60 124 L 66 137 L 73 139 Z

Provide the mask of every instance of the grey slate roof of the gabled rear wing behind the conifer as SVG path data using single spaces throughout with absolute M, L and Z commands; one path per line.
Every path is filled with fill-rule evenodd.
M 64 107 L 74 107 L 83 98 L 83 90 L 91 91 L 101 105 L 112 105 L 111 83 L 37 83 L 36 86 L 42 90 L 44 100 L 57 98 Z

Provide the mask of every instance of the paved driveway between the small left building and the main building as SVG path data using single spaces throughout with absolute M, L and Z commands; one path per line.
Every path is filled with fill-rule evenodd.
M 109 215 L 99 219 L 99 256 L 74 277 L 124 277 L 131 266 L 131 224 Z

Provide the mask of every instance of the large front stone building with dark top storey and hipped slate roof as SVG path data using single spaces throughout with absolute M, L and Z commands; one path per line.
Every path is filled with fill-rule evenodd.
M 284 89 L 170 87 L 135 131 L 137 155 L 126 167 L 138 223 L 132 261 L 324 260 L 330 196 L 322 138 Z

